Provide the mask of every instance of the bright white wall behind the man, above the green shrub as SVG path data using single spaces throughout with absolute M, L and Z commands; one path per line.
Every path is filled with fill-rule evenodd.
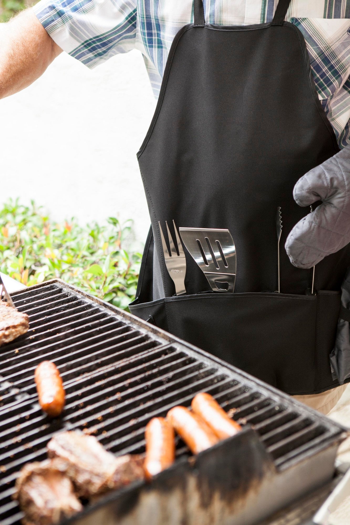
M 138 51 L 89 70 L 61 54 L 43 77 L 0 100 L 0 202 L 35 198 L 55 220 L 150 220 L 136 153 L 153 111 Z

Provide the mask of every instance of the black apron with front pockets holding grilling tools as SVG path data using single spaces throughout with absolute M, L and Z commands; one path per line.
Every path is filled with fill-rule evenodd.
M 312 272 L 292 266 L 284 242 L 310 209 L 298 178 L 338 149 L 318 100 L 305 41 L 283 22 L 194 23 L 174 38 L 149 131 L 138 153 L 152 228 L 132 313 L 290 394 L 323 392 L 349 247 Z M 276 209 L 282 208 L 281 293 L 276 293 Z M 158 221 L 228 228 L 237 255 L 234 293 L 213 293 L 186 254 L 186 296 L 174 296 Z M 154 240 L 153 240 L 154 239 Z M 185 250 L 186 251 L 186 250 Z

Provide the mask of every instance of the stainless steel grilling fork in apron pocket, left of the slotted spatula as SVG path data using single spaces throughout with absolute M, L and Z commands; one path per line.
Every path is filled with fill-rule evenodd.
M 178 230 L 173 221 L 172 224 L 174 225 L 176 244 L 177 244 L 179 253 L 177 252 L 175 243 L 171 236 L 168 223 L 166 222 L 169 245 L 170 245 L 170 253 L 169 253 L 166 240 L 164 239 L 164 235 L 162 232 L 162 227 L 160 225 L 160 222 L 158 222 L 158 224 L 159 224 L 159 230 L 160 230 L 160 237 L 162 239 L 163 254 L 164 254 L 164 259 L 166 261 L 167 270 L 169 272 L 170 277 L 174 281 L 176 295 L 183 295 L 183 293 L 186 293 L 186 288 L 184 286 L 184 278 L 186 276 L 186 257 L 183 251 L 183 247 L 182 247 L 181 240 L 178 234 Z

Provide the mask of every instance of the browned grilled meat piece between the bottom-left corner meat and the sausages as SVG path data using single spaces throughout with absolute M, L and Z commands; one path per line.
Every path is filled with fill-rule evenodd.
M 67 475 L 79 496 L 90 498 L 110 489 L 142 479 L 143 458 L 138 455 L 115 457 L 96 437 L 79 432 L 56 434 L 47 445 L 48 456 L 67 464 Z

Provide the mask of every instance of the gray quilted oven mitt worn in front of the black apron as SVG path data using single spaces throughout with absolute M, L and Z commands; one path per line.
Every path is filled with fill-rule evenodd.
M 303 175 L 294 186 L 299 206 L 322 201 L 292 229 L 286 252 L 297 268 L 312 268 L 350 242 L 350 145 Z

